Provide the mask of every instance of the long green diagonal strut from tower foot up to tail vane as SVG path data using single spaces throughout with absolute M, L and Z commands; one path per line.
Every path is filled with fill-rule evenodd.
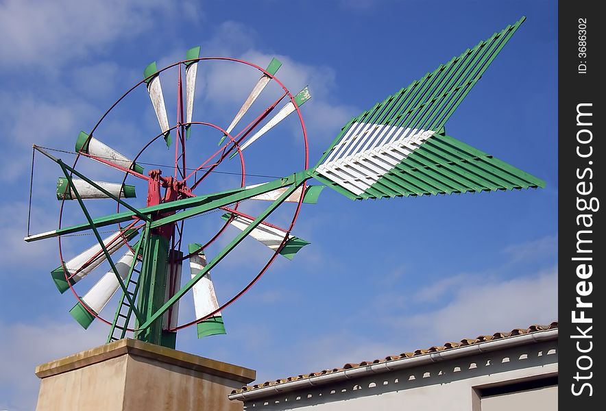
M 154 312 L 154 314 L 152 314 L 151 317 L 145 323 L 143 323 L 141 326 L 139 326 L 139 329 L 143 329 L 143 330 L 147 329 L 147 327 L 149 327 L 152 323 L 154 323 L 154 321 L 157 321 L 160 318 L 160 316 L 162 316 L 162 314 L 164 314 L 173 305 L 173 303 L 178 301 L 181 297 L 183 297 L 183 295 L 185 295 L 186 292 L 191 290 L 191 288 L 198 282 L 198 280 L 200 278 L 204 277 L 204 275 L 206 275 L 206 273 L 208 273 L 208 271 L 210 271 L 211 269 L 213 269 L 214 266 L 219 264 L 219 262 L 221 262 L 221 260 L 223 260 L 223 258 L 230 251 L 232 251 L 232 249 L 234 249 L 234 247 L 239 245 L 239 243 L 248 234 L 250 234 L 250 232 L 252 232 L 252 230 L 257 225 L 259 225 L 263 220 L 265 220 L 267 218 L 267 216 L 269 216 L 269 214 L 271 214 L 271 212 L 276 210 L 276 208 L 278 208 L 278 206 L 280 206 L 280 204 L 283 203 L 284 200 L 287 199 L 288 196 L 291 195 L 305 181 L 306 181 L 306 178 L 295 181 L 295 183 L 292 186 L 290 186 L 288 188 L 288 190 L 286 190 L 282 195 L 280 195 L 280 197 L 278 197 L 278 199 L 276 201 L 274 201 L 274 203 L 271 203 L 271 206 L 266 208 L 265 211 L 263 211 L 261 214 L 259 214 L 259 216 L 248 227 L 243 229 L 243 231 L 240 232 L 234 238 L 234 240 L 232 240 L 232 242 L 230 242 L 228 245 L 226 245 L 226 247 L 224 247 L 221 251 L 219 251 L 219 253 L 217 253 L 217 256 L 215 256 L 215 258 L 213 258 L 213 260 L 210 260 L 210 262 L 208 262 L 208 264 L 206 264 L 204 269 L 202 269 L 199 273 L 197 273 L 197 275 L 195 275 L 195 277 L 190 279 L 189 282 L 187 282 L 184 286 L 182 286 L 182 288 L 178 292 L 175 292 L 175 295 L 173 295 L 173 297 L 171 297 L 169 299 L 169 301 L 167 301 L 160 309 L 158 309 L 158 311 Z

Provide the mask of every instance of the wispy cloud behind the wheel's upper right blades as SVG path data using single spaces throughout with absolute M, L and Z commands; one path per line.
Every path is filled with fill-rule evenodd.
M 212 40 L 202 45 L 204 53 L 213 55 L 229 55 L 241 60 L 252 62 L 265 68 L 271 58 L 282 62 L 276 77 L 286 86 L 293 95 L 305 86 L 309 86 L 311 100 L 302 107 L 303 119 L 308 130 L 308 138 L 319 144 L 318 149 L 324 149 L 332 137 L 336 136 L 340 127 L 352 116 L 361 110 L 350 105 L 335 103 L 332 96 L 337 91 L 337 73 L 335 70 L 322 65 L 306 64 L 304 60 L 295 60 L 288 55 L 280 53 L 267 53 L 258 49 L 256 32 L 241 23 L 225 22 L 219 27 Z M 217 63 L 209 64 L 206 71 L 198 72 L 198 82 L 201 87 L 197 95 L 202 97 L 206 104 L 219 105 L 228 116 L 233 116 L 247 97 L 252 86 L 256 83 L 259 73 L 248 69 L 241 64 Z M 278 86 L 268 86 L 264 90 L 250 112 L 267 107 L 278 97 Z M 286 101 L 278 105 L 282 107 Z M 295 114 L 291 114 L 295 116 Z M 247 121 L 243 119 L 243 126 Z M 298 134 L 299 126 L 293 122 L 293 131 Z M 297 131 L 295 131 L 297 130 Z M 312 158 L 311 160 L 315 160 Z

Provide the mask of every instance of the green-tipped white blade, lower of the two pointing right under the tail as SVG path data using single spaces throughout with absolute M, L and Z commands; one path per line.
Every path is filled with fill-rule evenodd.
M 231 215 L 232 214 L 230 213 L 223 214 L 221 219 L 227 221 L 230 219 Z M 236 215 L 232 217 L 230 224 L 237 229 L 244 230 L 250 225 L 250 223 L 252 223 L 252 221 L 252 219 L 245 216 Z M 261 242 L 269 247 L 269 249 L 276 251 L 278 247 L 280 247 L 280 244 L 282 244 L 285 234 L 286 232 L 282 231 L 281 229 L 267 225 L 266 223 L 260 223 L 260 225 L 255 227 L 249 235 L 258 242 Z M 284 244 L 284 247 L 282 247 L 282 250 L 280 250 L 280 255 L 292 260 L 295 254 L 308 244 L 310 244 L 310 242 L 289 234 L 286 244 Z

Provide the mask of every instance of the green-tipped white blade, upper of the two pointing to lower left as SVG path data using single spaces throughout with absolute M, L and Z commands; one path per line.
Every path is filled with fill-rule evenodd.
M 108 253 L 113 254 L 118 251 L 128 240 L 131 240 L 138 234 L 137 229 L 127 229 L 125 231 L 115 232 L 103 240 L 103 243 L 108 250 Z M 90 271 L 106 260 L 105 253 L 101 250 L 99 243 L 93 245 L 83 253 L 78 254 L 68 262 L 64 262 L 63 266 L 58 266 L 51 271 L 53 282 L 58 290 L 63 294 L 69 289 L 69 284 L 73 285 L 86 277 Z M 69 280 L 65 279 L 64 274 L 67 271 L 71 276 Z M 68 283 L 69 281 L 69 283 Z

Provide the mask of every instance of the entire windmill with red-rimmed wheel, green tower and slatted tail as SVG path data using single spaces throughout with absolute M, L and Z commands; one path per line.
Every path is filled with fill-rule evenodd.
M 317 203 L 325 186 L 354 200 L 544 187 L 541 179 L 449 136 L 444 127 L 523 21 L 522 17 L 352 118 L 313 166 L 308 163 L 308 139 L 300 110 L 311 94 L 308 88 L 292 93 L 280 82 L 276 77 L 281 66 L 278 60 L 271 60 L 263 69 L 233 58 L 200 57 L 200 48 L 195 47 L 187 52 L 185 60 L 164 69 L 158 70 L 155 62 L 149 64 L 144 79 L 118 99 L 90 132 L 80 133 L 72 165 L 56 158 L 48 149 L 34 146 L 62 170 L 57 186 L 60 223 L 51 232 L 28 233 L 25 241 L 58 238 L 60 266 L 51 272 L 53 281 L 60 292 L 71 290 L 77 298 L 71 314 L 83 327 L 95 319 L 110 325 L 108 342 L 133 332 L 139 340 L 175 347 L 176 332 L 190 325 L 197 326 L 199 337 L 223 334 L 224 308 L 250 289 L 278 256 L 292 259 L 309 244 L 292 233 L 293 227 L 303 204 Z M 196 121 L 193 114 L 198 69 L 202 73 L 207 68 L 210 71 L 212 64 L 257 73 L 256 84 L 226 128 Z M 160 82 L 160 77 L 171 75 L 176 79 L 174 123 L 169 121 Z M 271 85 L 278 90 L 277 98 L 263 99 L 263 93 Z M 118 151 L 104 142 L 107 135 L 101 132 L 101 125 L 117 108 L 128 104 L 130 97 L 137 92 L 141 95 L 143 89 L 151 100 L 160 133 L 146 140 L 143 148 L 129 157 L 122 154 L 129 151 Z M 202 88 L 202 92 L 211 91 L 208 86 Z M 263 105 L 258 114 L 252 113 L 255 103 Z M 234 133 L 245 123 L 243 119 L 249 123 Z M 300 168 L 295 168 L 299 171 L 260 184 L 247 184 L 244 153 L 275 138 L 271 134 L 276 134 L 285 119 L 295 119 L 300 130 L 302 155 L 298 155 Z M 219 141 L 218 149 L 216 140 L 212 145 L 209 142 L 213 136 Z M 129 145 L 124 138 L 117 141 Z M 206 160 L 199 162 L 198 152 L 191 147 L 201 143 L 206 149 L 215 148 L 209 151 Z M 165 155 L 167 147 L 171 156 L 174 153 L 174 162 L 157 168 L 158 157 L 148 153 L 151 149 L 162 149 Z M 189 151 L 186 147 L 190 147 Z M 195 158 L 195 164 L 199 165 L 190 166 L 186 158 L 190 162 Z M 239 161 L 232 161 L 234 158 Z M 94 162 L 119 173 L 122 182 L 101 182 L 87 177 L 81 169 Z M 295 163 L 287 164 L 293 167 Z M 156 168 L 146 172 L 143 166 L 148 165 Z M 225 182 L 210 182 L 221 175 L 222 167 L 237 168 L 239 181 L 234 188 L 226 189 Z M 231 175 L 229 171 L 225 173 Z M 313 179 L 321 184 L 309 185 Z M 141 206 L 133 203 L 137 185 L 147 190 L 145 204 Z M 86 206 L 91 199 L 110 199 L 117 210 L 93 217 L 88 210 L 90 206 Z M 269 206 L 247 214 L 239 206 L 248 200 L 265 201 Z M 65 211 L 68 203 L 74 201 L 82 209 L 86 222 L 64 224 L 64 220 L 71 219 L 71 214 Z M 280 226 L 274 216 L 286 203 L 291 203 L 286 211 L 289 217 Z M 221 219 L 214 214 L 217 211 L 221 212 Z M 201 216 L 216 221 L 215 231 L 210 230 L 214 234 L 185 245 L 186 223 Z M 108 236 L 101 235 L 112 226 L 117 228 L 110 230 Z M 223 238 L 230 231 L 228 227 L 237 229 L 237 235 L 226 241 Z M 206 230 L 195 229 L 194 234 L 202 231 Z M 80 234 L 91 232 L 96 243 L 72 257 L 71 250 L 75 247 L 64 247 L 63 242 L 81 240 Z M 233 297 L 219 303 L 210 271 L 213 278 L 217 272 L 220 275 L 220 263 L 229 260 L 228 256 L 247 237 L 268 247 L 270 256 Z M 114 262 L 112 256 L 117 251 L 121 251 L 120 257 Z M 182 270 L 188 262 L 189 275 L 182 279 Z M 106 269 L 100 270 L 99 266 Z M 80 282 L 88 281 L 97 271 L 101 271 L 101 277 L 82 292 Z M 188 293 L 192 295 L 195 313 L 190 321 L 178 321 L 180 307 L 184 310 L 182 300 Z M 110 301 L 115 302 L 114 314 L 104 318 L 101 311 Z

